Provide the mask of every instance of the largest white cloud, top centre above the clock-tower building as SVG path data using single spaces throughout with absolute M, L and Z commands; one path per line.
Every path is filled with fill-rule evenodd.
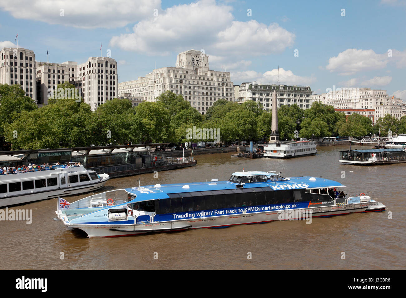
M 157 17 L 138 22 L 132 33 L 113 36 L 110 45 L 162 56 L 172 51 L 205 49 L 206 53 L 238 55 L 240 59 L 246 54 L 281 53 L 293 45 L 295 35 L 278 24 L 235 21 L 231 10 L 231 6 L 214 0 L 173 6 Z

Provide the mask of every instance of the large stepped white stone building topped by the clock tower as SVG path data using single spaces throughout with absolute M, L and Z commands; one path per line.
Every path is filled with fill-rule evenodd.
M 118 90 L 145 101 L 156 101 L 160 94 L 170 90 L 181 94 L 201 114 L 218 99 L 234 101 L 230 73 L 210 70 L 209 56 L 196 50 L 178 54 L 176 66 L 154 69 L 145 77 L 119 83 Z

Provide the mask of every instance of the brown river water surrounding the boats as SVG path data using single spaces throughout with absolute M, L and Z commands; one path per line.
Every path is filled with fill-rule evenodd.
M 313 218 L 311 224 L 273 221 L 224 229 L 87 238 L 53 220 L 57 199 L 49 199 L 13 207 L 32 209 L 31 224 L 0 221 L 0 269 L 404 270 L 406 164 L 344 165 L 338 162 L 338 151 L 347 148 L 319 147 L 316 156 L 296 159 L 237 159 L 231 158 L 231 153 L 197 155 L 196 167 L 159 172 L 158 179 L 152 173 L 110 179 L 101 191 L 138 186 L 138 178 L 141 185 L 227 180 L 231 173 L 244 168 L 282 172 L 285 177 L 334 179 L 347 186 L 346 193 L 371 192 L 373 199 L 386 205 L 385 212 Z M 341 178 L 342 171 L 346 178 Z M 65 199 L 74 202 L 87 195 Z

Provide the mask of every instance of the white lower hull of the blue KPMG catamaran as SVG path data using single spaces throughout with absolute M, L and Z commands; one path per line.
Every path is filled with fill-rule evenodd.
M 304 210 L 311 214 L 296 217 L 286 217 L 281 219 L 281 211 L 265 211 L 265 212 L 247 212 L 233 215 L 217 216 L 217 217 L 200 217 L 194 219 L 182 219 L 174 221 L 162 221 L 154 223 L 141 223 L 141 224 L 125 224 L 120 225 L 118 222 L 111 225 L 103 224 L 69 224 L 65 222 L 68 227 L 78 228 L 86 232 L 89 237 L 117 237 L 117 236 L 131 236 L 138 234 L 145 234 L 151 232 L 171 232 L 180 231 L 186 229 L 198 229 L 198 228 L 216 228 L 216 227 L 228 227 L 231 225 L 253 224 L 253 223 L 266 223 L 270 221 L 278 220 L 306 220 L 310 221 L 313 217 L 331 217 L 336 215 L 349 214 L 353 212 L 369 212 L 369 211 L 384 211 L 385 206 L 379 202 L 363 202 L 347 205 L 333 205 L 324 207 L 312 207 L 301 209 L 289 209 L 289 211 L 295 212 L 295 210 Z M 63 220 L 63 218 L 61 218 Z

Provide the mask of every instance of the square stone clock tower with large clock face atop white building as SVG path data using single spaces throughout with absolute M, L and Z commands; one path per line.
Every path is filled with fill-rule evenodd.
M 189 50 L 178 54 L 176 66 L 190 69 L 196 75 L 204 75 L 209 71 L 209 56 L 204 51 Z

